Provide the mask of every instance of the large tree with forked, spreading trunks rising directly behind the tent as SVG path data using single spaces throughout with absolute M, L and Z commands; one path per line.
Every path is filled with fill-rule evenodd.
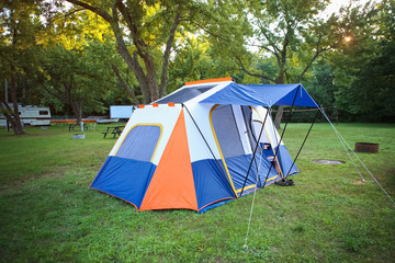
M 117 50 L 134 72 L 145 103 L 165 94 L 176 32 L 181 22 L 194 13 L 199 3 L 187 0 L 67 1 L 94 12 L 111 25 Z M 160 54 L 161 59 L 156 59 Z M 161 73 L 158 75 L 160 67 Z

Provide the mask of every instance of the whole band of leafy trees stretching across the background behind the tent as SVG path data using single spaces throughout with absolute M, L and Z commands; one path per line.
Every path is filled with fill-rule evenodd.
M 340 121 L 394 122 L 394 0 L 325 18 L 328 2 L 4 0 L 1 112 L 23 134 L 18 103 L 80 121 L 230 76 L 301 82 Z

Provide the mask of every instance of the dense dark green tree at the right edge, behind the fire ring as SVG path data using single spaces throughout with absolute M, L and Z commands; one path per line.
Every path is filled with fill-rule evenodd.
M 336 100 L 351 121 L 393 122 L 395 103 L 395 2 L 342 10 L 342 31 L 350 41 L 331 57 Z

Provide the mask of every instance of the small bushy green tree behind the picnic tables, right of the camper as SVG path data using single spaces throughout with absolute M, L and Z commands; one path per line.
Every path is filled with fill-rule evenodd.
M 50 46 L 42 53 L 42 67 L 46 76 L 44 90 L 69 105 L 81 122 L 82 112 L 103 112 L 102 96 L 113 78 L 98 50 L 102 44 L 91 43 L 82 50 Z

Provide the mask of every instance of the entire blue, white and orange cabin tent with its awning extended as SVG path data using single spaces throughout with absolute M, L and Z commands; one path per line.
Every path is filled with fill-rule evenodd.
M 188 82 L 134 111 L 90 188 L 137 210 L 203 213 L 295 174 L 273 105 L 317 107 L 301 84 Z

